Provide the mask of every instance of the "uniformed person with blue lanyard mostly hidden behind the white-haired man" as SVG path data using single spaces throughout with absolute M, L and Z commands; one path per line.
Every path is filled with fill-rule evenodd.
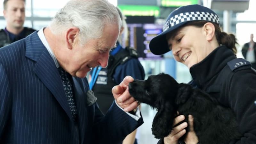
M 93 90 L 98 100 L 100 110 L 107 114 L 114 97 L 112 96 L 111 89 L 113 86 L 121 83 L 125 76 L 132 76 L 134 79 L 144 80 L 144 68 L 138 60 L 137 51 L 130 47 L 122 47 L 123 38 L 127 39 L 127 26 L 125 17 L 121 10 L 116 7 L 122 26 L 119 33 L 116 47 L 110 51 L 108 66 L 102 68 L 98 66 L 93 68 L 89 76 L 90 90 Z M 129 134 L 123 141 L 123 144 L 137 144 L 135 139 L 136 130 Z

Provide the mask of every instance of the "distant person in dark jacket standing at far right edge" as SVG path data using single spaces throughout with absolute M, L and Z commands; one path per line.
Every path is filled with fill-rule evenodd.
M 250 36 L 250 42 L 242 47 L 244 59 L 251 62 L 252 68 L 256 69 L 256 43 L 253 41 L 253 34 Z

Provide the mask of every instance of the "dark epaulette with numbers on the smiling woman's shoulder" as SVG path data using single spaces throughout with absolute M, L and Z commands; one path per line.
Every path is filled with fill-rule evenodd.
M 234 71 L 236 68 L 240 68 L 240 67 L 244 67 L 244 66 L 251 67 L 251 65 L 252 65 L 249 61 L 246 61 L 243 58 L 233 59 L 233 60 L 229 61 L 227 64 L 228 64 L 229 68 L 231 69 L 231 71 Z

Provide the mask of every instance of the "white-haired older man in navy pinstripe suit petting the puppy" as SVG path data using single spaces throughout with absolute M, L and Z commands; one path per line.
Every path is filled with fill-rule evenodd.
M 115 100 L 106 115 L 85 77 L 107 66 L 120 29 L 107 0 L 70 0 L 49 26 L 1 48 L 1 143 L 116 144 L 139 127 L 131 76 L 109 88 Z

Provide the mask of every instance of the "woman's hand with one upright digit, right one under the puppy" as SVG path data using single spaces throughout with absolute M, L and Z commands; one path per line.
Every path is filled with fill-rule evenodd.
M 188 115 L 189 130 L 187 137 L 185 138 L 186 144 L 196 144 L 198 143 L 198 137 L 194 131 L 194 118 L 192 115 Z

